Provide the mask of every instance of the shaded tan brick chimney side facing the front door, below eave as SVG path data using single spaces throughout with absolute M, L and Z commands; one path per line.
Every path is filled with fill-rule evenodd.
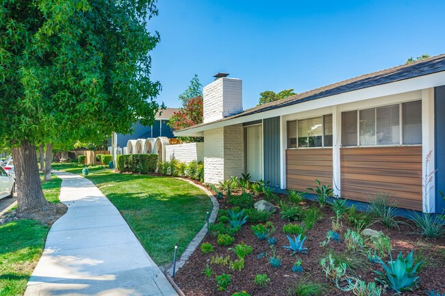
M 224 128 L 224 178 L 244 173 L 244 128 L 242 124 Z

